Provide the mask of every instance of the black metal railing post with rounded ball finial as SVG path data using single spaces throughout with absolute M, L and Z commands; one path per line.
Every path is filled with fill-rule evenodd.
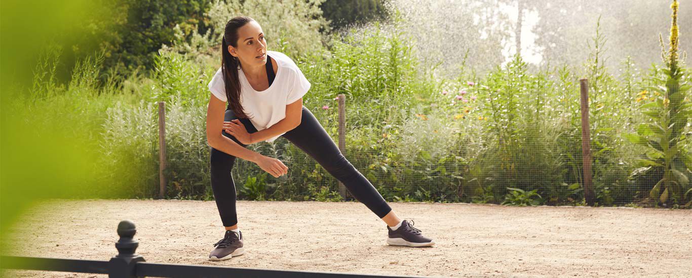
M 108 265 L 108 277 L 111 278 L 131 278 L 136 276 L 136 264 L 145 261 L 144 257 L 135 251 L 139 246 L 136 239 L 133 239 L 137 229 L 134 223 L 129 220 L 120 221 L 118 224 L 118 235 L 120 239 L 116 242 L 118 255 L 112 257 Z

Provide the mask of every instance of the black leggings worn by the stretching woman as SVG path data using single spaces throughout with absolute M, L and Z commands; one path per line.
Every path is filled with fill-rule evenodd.
M 237 119 L 233 110 L 226 110 L 224 121 L 232 119 Z M 257 132 L 257 129 L 249 119 L 240 119 L 240 122 L 243 123 L 249 133 Z M 221 133 L 240 146 L 247 146 L 240 143 L 233 135 L 226 132 Z M 336 146 L 336 143 L 334 143 L 334 140 L 329 137 L 315 116 L 312 115 L 312 112 L 305 106 L 302 107 L 300 126 L 289 130 L 282 137 L 291 141 L 291 143 L 320 163 L 320 166 L 325 168 L 329 174 L 344 183 L 351 195 L 356 197 L 361 203 L 364 203 L 378 217 L 385 217 L 392 210 L 382 195 L 372 186 L 372 183 L 365 179 L 363 174 L 358 172 L 346 160 Z M 238 223 L 235 211 L 235 183 L 230 175 L 230 170 L 233 169 L 233 164 L 235 163 L 235 157 L 215 148 L 212 148 L 210 157 L 214 199 L 219 209 L 219 215 L 221 215 L 221 222 L 224 226 L 230 227 Z

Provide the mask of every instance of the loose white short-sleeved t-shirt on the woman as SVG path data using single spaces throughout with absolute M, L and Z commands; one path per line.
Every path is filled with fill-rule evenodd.
M 286 117 L 286 105 L 297 101 L 310 89 L 310 82 L 307 81 L 300 68 L 286 54 L 272 50 L 267 50 L 266 54 L 267 59 L 272 57 L 277 63 L 274 81 L 266 90 L 258 92 L 253 89 L 243 70 L 238 70 L 240 104 L 243 112 L 250 117 L 250 121 L 257 128 L 257 131 L 269 128 L 274 123 L 284 119 Z M 212 80 L 209 81 L 208 86 L 212 95 L 217 97 L 217 99 L 228 101 L 221 68 L 217 70 Z M 264 141 L 274 141 L 285 133 Z

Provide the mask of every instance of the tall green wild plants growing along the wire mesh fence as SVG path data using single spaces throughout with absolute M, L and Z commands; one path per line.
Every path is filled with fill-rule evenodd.
M 410 47 L 414 42 L 398 27 L 400 20 L 335 35 L 327 51 L 294 57 L 312 83 L 304 105 L 335 142 L 335 97 L 347 95 L 344 153 L 388 201 L 583 204 L 579 77 L 587 77 L 591 86 L 590 141 L 599 205 L 646 201 L 657 181 L 673 175 L 672 168 L 642 170 L 637 159 L 651 152 L 625 140 L 646 121 L 637 101 L 641 90 L 661 84 L 657 78 L 668 73 L 657 66 L 641 73 L 625 59 L 624 74 L 614 77 L 603 66 L 607 48 L 600 23 L 593 43 L 585 46 L 591 55 L 583 65 L 531 69 L 515 56 L 482 76 L 462 63 L 450 80 L 419 75 Z M 212 199 L 206 83 L 218 67 L 180 50 L 160 51 L 151 78 L 133 75 L 118 85 L 94 83 L 98 73 L 92 71 L 100 59 L 85 60 L 63 89 L 53 83 L 48 59 L 37 66 L 31 107 L 42 112 L 34 117 L 71 117 L 75 124 L 69 128 L 98 142 L 98 157 L 89 158 L 100 173 L 98 184 L 113 185 L 120 197 L 154 197 L 159 182 L 156 102 L 165 101 L 166 197 Z M 675 73 L 675 78 L 684 91 L 689 75 Z M 668 96 L 666 111 L 689 106 L 689 97 L 674 99 L 681 95 L 665 92 L 659 95 Z M 689 124 L 675 130 L 680 153 L 689 153 L 689 130 Z M 275 179 L 238 159 L 232 175 L 240 199 L 340 199 L 336 179 L 286 139 L 248 148 L 281 159 L 289 175 Z M 684 192 L 675 192 L 666 204 L 684 203 Z

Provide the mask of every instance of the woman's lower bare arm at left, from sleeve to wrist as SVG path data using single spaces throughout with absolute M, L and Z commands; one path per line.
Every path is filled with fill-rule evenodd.
M 228 155 L 257 163 L 262 157 L 260 153 L 243 148 L 243 146 L 240 146 L 221 133 L 221 128 L 224 126 L 225 112 L 226 102 L 217 99 L 214 95 L 210 95 L 209 106 L 207 107 L 207 143 L 212 148 L 226 152 Z

